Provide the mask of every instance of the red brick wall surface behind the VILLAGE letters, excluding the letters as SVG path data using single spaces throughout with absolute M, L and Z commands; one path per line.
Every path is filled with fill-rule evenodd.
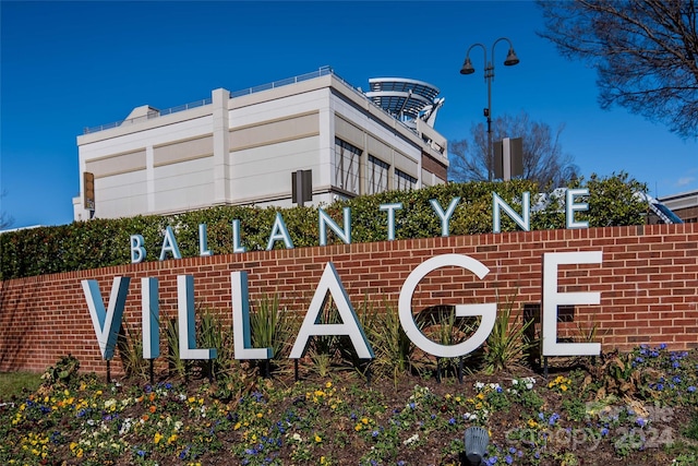
M 429 258 L 470 255 L 490 268 L 480 280 L 443 268 L 419 285 L 413 308 L 495 302 L 516 296 L 517 312 L 540 304 L 544 252 L 603 252 L 602 264 L 561 267 L 558 290 L 598 291 L 600 306 L 578 306 L 561 336 L 599 325 L 603 350 L 666 343 L 698 347 L 698 224 L 550 230 L 385 241 L 185 258 L 0 283 L 0 370 L 43 371 L 72 354 L 86 371 L 105 371 L 81 280 L 96 279 L 108 298 L 115 276 L 131 277 L 125 316 L 140 326 L 142 277 L 160 282 L 160 312 L 177 314 L 177 275 L 194 276 L 195 301 L 231 314 L 230 272 L 246 271 L 250 297 L 278 292 L 281 304 L 306 309 L 328 261 L 356 309 L 368 296 L 376 306 L 397 297 L 407 275 Z M 165 332 L 160 332 L 165 340 Z

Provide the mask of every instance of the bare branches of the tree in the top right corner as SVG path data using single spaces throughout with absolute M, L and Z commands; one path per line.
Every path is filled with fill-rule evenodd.
M 538 1 L 550 39 L 598 71 L 599 103 L 698 138 L 698 33 L 693 0 Z

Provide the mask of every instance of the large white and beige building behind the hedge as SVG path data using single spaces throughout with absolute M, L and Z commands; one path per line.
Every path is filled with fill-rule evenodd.
M 426 85 L 399 81 L 404 91 L 371 98 L 322 68 L 262 89 L 215 89 L 210 99 L 170 110 L 137 107 L 122 122 L 77 136 L 74 219 L 289 207 L 299 170 L 312 179 L 306 204 L 314 205 L 444 183 L 446 140 L 432 128 L 443 99 L 420 97 L 423 106 L 397 115 L 400 94 L 397 110 L 407 111 L 414 100 L 408 87 Z M 388 94 L 393 107 L 381 107 Z

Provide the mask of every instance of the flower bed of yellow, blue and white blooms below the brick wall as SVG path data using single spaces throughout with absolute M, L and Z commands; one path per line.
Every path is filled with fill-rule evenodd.
M 0 408 L 2 464 L 489 465 L 698 462 L 697 354 L 638 347 L 547 380 L 516 374 L 254 377 L 105 383 L 49 371 Z M 579 361 L 577 361 L 579 362 Z M 462 463 L 467 464 L 467 463 Z

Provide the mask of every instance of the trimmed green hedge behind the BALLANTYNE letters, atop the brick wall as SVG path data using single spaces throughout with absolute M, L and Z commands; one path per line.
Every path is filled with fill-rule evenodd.
M 609 178 L 592 176 L 578 180 L 574 187 L 589 189 L 589 211 L 578 213 L 576 219 L 588 220 L 590 227 L 638 225 L 643 223 L 646 205 L 633 194 L 645 187 L 626 174 Z M 393 191 L 337 202 L 324 210 L 342 225 L 342 208 L 351 208 L 352 242 L 387 239 L 387 214 L 381 212 L 385 203 L 402 203 L 396 211 L 397 239 L 441 236 L 441 220 L 430 200 L 438 200 L 446 210 L 454 198 L 460 202 L 450 219 L 450 235 L 492 232 L 492 192 L 496 192 L 515 210 L 522 192 L 531 193 L 531 206 L 539 188 L 526 180 L 508 182 L 448 183 L 414 191 Z M 220 206 L 167 216 L 136 216 L 118 219 L 93 219 L 70 225 L 10 231 L 0 235 L 2 264 L 0 279 L 11 279 L 65 271 L 98 268 L 131 262 L 130 237 L 142 235 L 147 251 L 146 261 L 157 261 L 163 246 L 163 231 L 169 225 L 176 232 L 182 256 L 198 255 L 198 225 L 206 224 L 208 248 L 215 254 L 232 252 L 233 219 L 241 225 L 241 242 L 248 251 L 264 250 L 269 240 L 277 212 L 281 212 L 296 248 L 317 246 L 318 214 L 316 207 L 237 207 Z M 551 203 L 541 212 L 531 213 L 531 229 L 565 227 L 564 208 Z M 517 228 L 502 215 L 502 231 Z M 328 232 L 329 243 L 340 242 Z M 275 248 L 284 248 L 277 241 Z

